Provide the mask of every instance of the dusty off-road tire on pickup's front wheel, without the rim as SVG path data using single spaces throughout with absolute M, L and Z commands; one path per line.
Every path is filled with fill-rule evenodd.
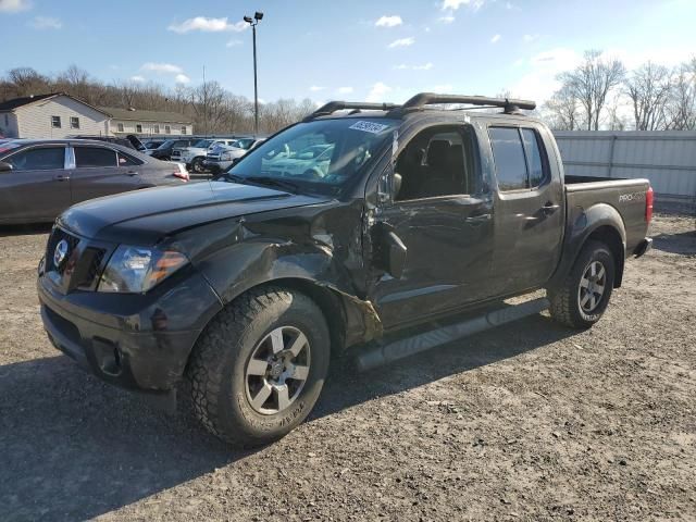
M 281 325 L 299 328 L 311 349 L 309 376 L 294 402 L 262 414 L 246 393 L 246 365 L 259 341 Z M 312 299 L 296 290 L 263 287 L 222 310 L 198 339 L 186 376 L 196 417 L 213 435 L 237 447 L 276 440 L 310 413 L 322 390 L 331 355 L 326 321 Z

